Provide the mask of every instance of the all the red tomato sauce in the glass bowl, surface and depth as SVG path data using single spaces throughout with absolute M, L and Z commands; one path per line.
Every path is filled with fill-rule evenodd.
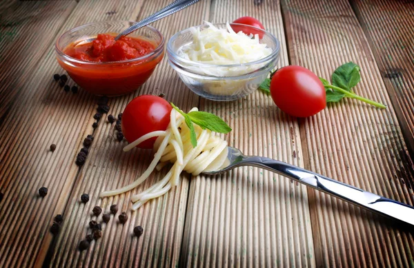
M 75 83 L 93 94 L 118 96 L 134 92 L 150 77 L 164 50 L 137 59 L 153 52 L 158 44 L 139 37 L 121 37 L 115 41 L 115 36 L 98 34 L 90 43 L 71 43 L 63 53 L 85 63 L 59 60 L 59 64 Z M 137 60 L 122 62 L 131 59 Z

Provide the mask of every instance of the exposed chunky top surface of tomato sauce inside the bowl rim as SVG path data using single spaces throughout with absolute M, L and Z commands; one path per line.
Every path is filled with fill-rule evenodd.
M 115 41 L 111 34 L 98 34 L 90 43 L 72 43 L 63 52 L 82 61 L 108 62 L 126 61 L 144 56 L 155 49 L 155 45 L 143 39 L 121 37 Z

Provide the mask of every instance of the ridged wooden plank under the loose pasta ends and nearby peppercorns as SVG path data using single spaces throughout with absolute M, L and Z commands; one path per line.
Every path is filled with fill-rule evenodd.
M 168 0 L 145 2 L 145 5 L 139 8 L 137 20 L 159 10 L 169 2 Z M 103 14 L 104 10 L 108 10 L 110 3 L 112 4 L 112 1 L 99 2 L 99 4 L 92 1 L 81 1 L 72 13 L 72 17 L 81 20 L 82 10 L 97 10 L 95 11 L 97 14 Z M 122 3 L 124 4 L 125 1 Z M 128 6 L 122 12 L 130 16 L 126 10 L 133 7 L 134 1 L 126 3 Z M 201 1 L 197 5 L 153 25 L 161 30 L 168 40 L 178 30 L 188 28 L 190 25 L 198 23 L 199 20 L 208 19 L 209 10 L 210 1 Z M 118 8 L 115 11 L 117 14 L 120 12 Z M 137 17 L 136 14 L 135 17 Z M 72 25 L 64 26 L 64 28 L 70 27 Z M 164 59 L 150 80 L 136 94 L 111 99 L 110 112 L 116 116 L 138 94 L 157 94 L 159 92 L 164 92 L 168 101 L 172 101 L 186 110 L 199 103 L 198 96 L 190 93 Z M 95 113 L 95 106 L 92 104 L 88 110 L 90 121 L 88 121 L 86 134 L 92 131 L 90 125 L 92 124 L 92 115 Z M 68 205 L 64 212 L 66 220 L 63 223 L 61 234 L 50 250 L 50 267 L 172 267 L 178 264 L 185 223 L 188 176 L 182 176 L 178 187 L 170 190 L 165 196 L 148 202 L 137 212 L 129 210 L 132 205 L 130 196 L 149 187 L 163 174 L 155 173 L 144 185 L 126 194 L 100 199 L 99 193 L 103 190 L 113 189 L 135 181 L 152 160 L 151 152 L 144 150 L 122 152 L 122 147 L 126 145 L 126 142 L 116 141 L 114 127 L 115 124 L 110 125 L 106 123 L 106 119 L 103 119 L 95 130 L 95 140 L 88 160 L 81 169 L 68 199 Z M 77 150 L 79 149 L 80 147 L 77 146 Z M 79 202 L 79 197 L 83 193 L 88 193 L 90 196 L 90 201 L 85 205 Z M 117 218 L 112 217 L 108 225 L 103 225 L 103 237 L 92 242 L 88 251 L 79 252 L 77 245 L 86 238 L 86 234 L 90 233 L 88 222 L 96 219 L 91 216 L 92 208 L 95 205 L 100 205 L 105 212 L 108 212 L 110 205 L 115 203 L 119 205 L 119 213 L 128 213 L 128 222 L 121 225 Z M 101 217 L 99 217 L 100 219 Z M 144 227 L 144 235 L 139 239 L 132 236 L 132 229 L 137 225 Z

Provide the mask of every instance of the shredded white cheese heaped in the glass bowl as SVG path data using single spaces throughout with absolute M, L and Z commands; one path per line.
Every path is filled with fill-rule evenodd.
M 230 65 L 249 63 L 263 59 L 272 53 L 266 43 L 260 43 L 257 34 L 247 35 L 235 32 L 227 23 L 226 29 L 219 29 L 206 22 L 208 28 L 191 28 L 193 42 L 178 50 L 179 56 L 197 63 Z M 237 66 L 233 68 L 202 68 L 202 72 L 213 76 L 237 76 L 253 72 L 261 66 Z M 251 70 L 250 70 L 251 69 Z

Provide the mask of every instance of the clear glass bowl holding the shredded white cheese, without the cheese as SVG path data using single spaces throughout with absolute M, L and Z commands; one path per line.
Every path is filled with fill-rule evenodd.
M 217 28 L 226 28 L 226 23 L 213 25 Z M 268 48 L 272 48 L 272 53 L 249 63 L 214 65 L 190 61 L 177 53 L 184 45 L 193 41 L 191 28 L 177 32 L 167 43 L 168 63 L 177 72 L 181 81 L 195 94 L 213 101 L 233 101 L 254 92 L 279 61 L 279 41 L 273 34 L 250 25 L 230 25 L 251 28 L 251 32 L 257 32 L 262 37 L 260 43 L 266 43 Z M 198 25 L 195 28 L 203 30 L 208 28 L 208 25 Z M 212 68 L 215 73 L 222 70 L 230 73 L 230 76 L 215 76 L 208 72 Z

